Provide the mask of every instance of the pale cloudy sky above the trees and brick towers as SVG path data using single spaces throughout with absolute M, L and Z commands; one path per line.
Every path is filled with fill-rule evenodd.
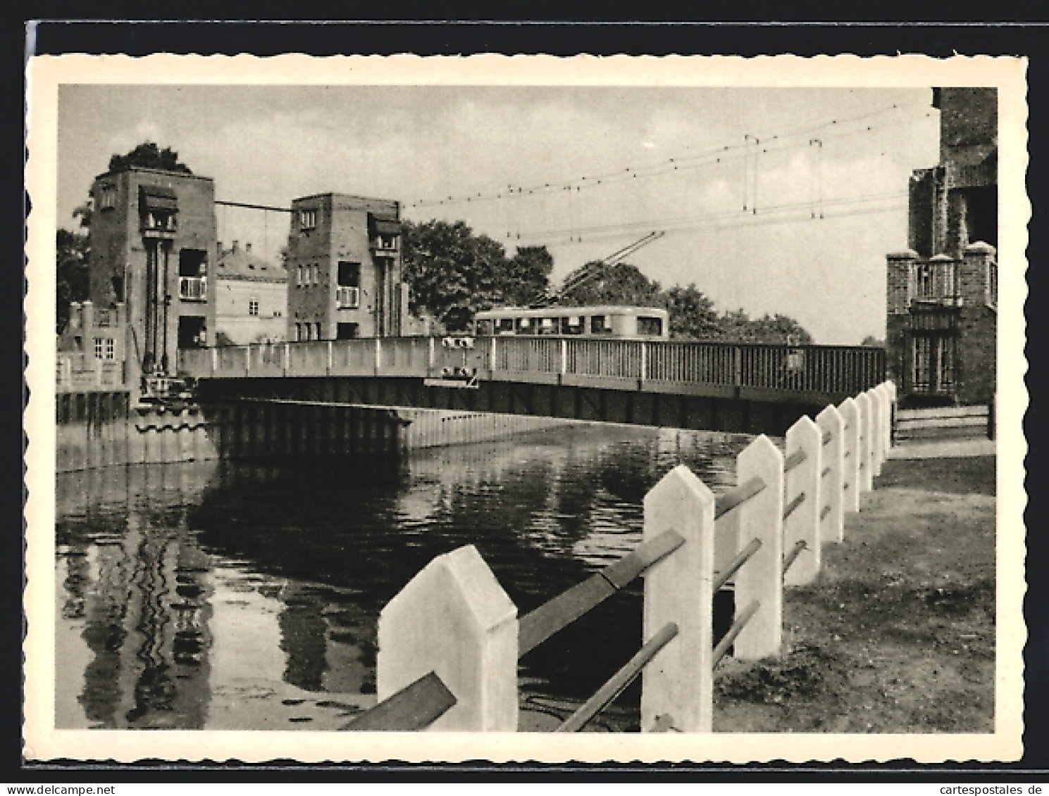
M 547 245 L 555 281 L 662 231 L 626 262 L 663 287 L 856 345 L 884 336 L 907 179 L 939 158 L 930 102 L 928 88 L 63 85 L 58 222 L 76 228 L 110 155 L 153 140 L 217 199 L 395 199 L 510 256 Z M 276 260 L 286 242 L 287 214 L 216 220 L 226 245 Z

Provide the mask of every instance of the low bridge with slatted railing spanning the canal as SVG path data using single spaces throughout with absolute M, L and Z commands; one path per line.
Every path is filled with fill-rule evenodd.
M 454 345 L 448 345 L 454 344 Z M 880 348 L 570 337 L 374 337 L 179 351 L 202 403 L 465 410 L 783 435 L 881 383 Z

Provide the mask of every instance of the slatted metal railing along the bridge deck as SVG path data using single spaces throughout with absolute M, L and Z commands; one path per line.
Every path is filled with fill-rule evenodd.
M 446 347 L 434 337 L 382 337 L 210 351 L 210 358 L 199 349 L 180 351 L 180 372 L 197 377 L 421 377 L 466 366 L 481 374 L 521 374 L 526 379 L 536 374 L 542 381 L 571 374 L 850 395 L 878 383 L 885 370 L 880 348 L 562 337 L 478 337 L 469 350 Z

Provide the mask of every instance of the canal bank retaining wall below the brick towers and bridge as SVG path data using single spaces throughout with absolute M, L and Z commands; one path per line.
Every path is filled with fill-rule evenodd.
M 56 471 L 384 454 L 505 439 L 565 422 L 571 421 L 285 400 L 135 406 L 127 391 L 62 393 L 56 396 Z

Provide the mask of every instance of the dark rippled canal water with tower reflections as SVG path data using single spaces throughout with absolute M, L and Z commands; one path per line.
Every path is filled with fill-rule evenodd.
M 341 728 L 376 701 L 380 610 L 435 555 L 475 545 L 522 616 L 631 550 L 670 468 L 723 491 L 748 441 L 572 424 L 382 460 L 60 473 L 57 726 Z M 522 725 L 556 724 L 640 636 L 639 580 L 521 659 Z M 596 729 L 636 729 L 639 699 Z

